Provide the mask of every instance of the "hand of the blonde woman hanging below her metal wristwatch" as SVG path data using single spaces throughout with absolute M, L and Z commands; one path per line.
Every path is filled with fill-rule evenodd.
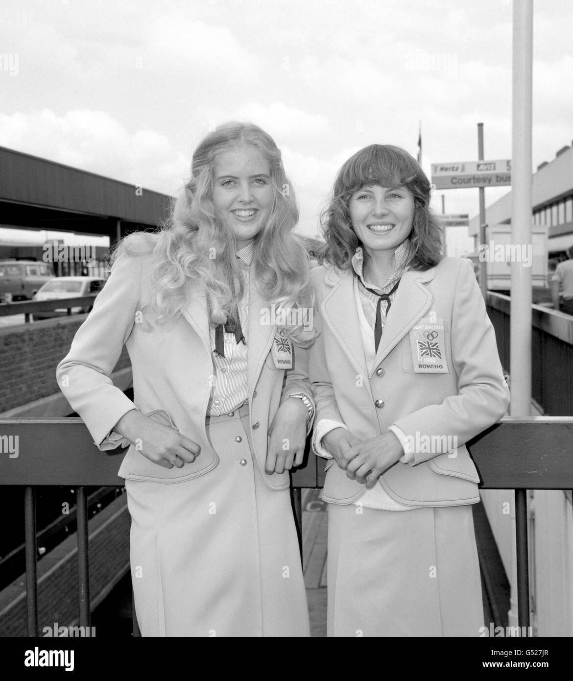
M 308 409 L 302 400 L 291 397 L 282 402 L 269 428 L 265 473 L 284 473 L 300 466 L 306 444 Z

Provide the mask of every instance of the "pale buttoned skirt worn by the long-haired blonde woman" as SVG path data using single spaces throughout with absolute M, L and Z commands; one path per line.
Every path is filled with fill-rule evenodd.
M 290 493 L 263 479 L 248 405 L 208 418 L 207 433 L 210 473 L 125 483 L 142 636 L 310 636 Z

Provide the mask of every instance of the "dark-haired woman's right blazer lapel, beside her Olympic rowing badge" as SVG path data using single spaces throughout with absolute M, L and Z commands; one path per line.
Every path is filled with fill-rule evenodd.
M 436 268 L 424 272 L 407 270 L 402 274 L 402 281 L 399 283 L 396 297 L 382 328 L 382 338 L 378 345 L 374 368 L 406 336 L 416 321 L 429 310 L 433 296 L 425 283 L 431 281 L 434 276 L 436 276 Z

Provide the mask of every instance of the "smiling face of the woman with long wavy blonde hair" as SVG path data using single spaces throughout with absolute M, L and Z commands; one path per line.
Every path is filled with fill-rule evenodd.
M 216 157 L 213 203 L 224 227 L 246 246 L 265 227 L 272 212 L 269 162 L 254 146 L 244 145 Z

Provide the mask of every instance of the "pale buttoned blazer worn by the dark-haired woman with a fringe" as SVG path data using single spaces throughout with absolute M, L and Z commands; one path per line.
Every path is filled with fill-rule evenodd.
M 478 501 L 479 477 L 465 443 L 506 413 L 509 391 L 472 262 L 445 257 L 429 270 L 404 272 L 370 374 L 353 270 L 320 266 L 311 274 L 317 298 L 314 319 L 321 332 L 310 349 L 315 424 L 342 421 L 360 440 L 398 426 L 411 443 L 414 461 L 391 466 L 380 485 L 399 503 L 416 507 Z M 414 373 L 410 332 L 431 313 L 444 321 L 448 373 Z M 448 450 L 448 443 L 455 442 L 457 452 Z M 329 461 L 325 501 L 353 503 L 365 489 Z

